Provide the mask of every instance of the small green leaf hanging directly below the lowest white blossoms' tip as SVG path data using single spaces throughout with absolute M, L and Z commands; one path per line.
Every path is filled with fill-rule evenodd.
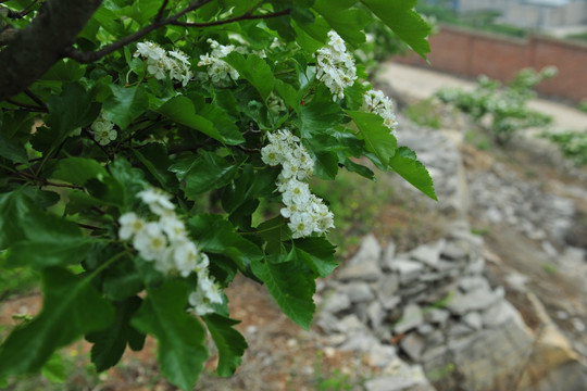
M 203 320 L 218 349 L 216 373 L 222 377 L 234 375 L 248 346 L 247 341 L 245 341 L 240 332 L 233 328 L 233 326 L 238 325 L 240 321 L 216 314 L 207 315 L 203 317 Z

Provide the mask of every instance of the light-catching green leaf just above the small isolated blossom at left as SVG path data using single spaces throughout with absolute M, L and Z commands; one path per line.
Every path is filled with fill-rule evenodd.
M 142 85 L 124 87 L 111 85 L 112 94 L 104 101 L 105 117 L 125 129 L 149 109 L 149 98 Z

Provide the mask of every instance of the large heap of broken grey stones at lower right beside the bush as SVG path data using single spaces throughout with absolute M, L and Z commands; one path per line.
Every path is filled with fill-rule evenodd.
M 434 390 L 426 377 L 487 391 L 527 381 L 536 337 L 484 276 L 482 244 L 464 222 L 407 253 L 367 236 L 323 287 L 316 325 L 329 343 L 382 368 L 367 391 Z

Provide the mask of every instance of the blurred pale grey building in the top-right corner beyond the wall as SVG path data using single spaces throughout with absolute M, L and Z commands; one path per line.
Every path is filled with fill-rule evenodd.
M 454 0 L 450 7 L 459 13 L 498 11 L 500 23 L 525 28 L 587 24 L 587 0 Z

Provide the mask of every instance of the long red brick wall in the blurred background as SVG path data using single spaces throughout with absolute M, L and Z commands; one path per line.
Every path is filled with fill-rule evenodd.
M 469 29 L 441 26 L 430 37 L 432 70 L 460 76 L 487 75 L 510 80 L 517 71 L 554 65 L 559 75 L 538 86 L 538 91 L 575 102 L 587 98 L 587 45 L 539 36 L 504 38 Z M 428 67 L 417 55 L 394 61 Z

